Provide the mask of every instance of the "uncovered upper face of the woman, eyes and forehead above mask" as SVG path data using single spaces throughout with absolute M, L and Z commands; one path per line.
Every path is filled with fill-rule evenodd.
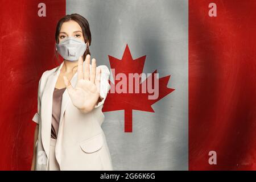
M 59 33 L 59 43 L 65 38 L 69 38 L 71 36 L 84 42 L 84 36 L 82 36 L 82 28 L 74 20 L 69 20 L 68 22 L 64 22 L 62 24 Z

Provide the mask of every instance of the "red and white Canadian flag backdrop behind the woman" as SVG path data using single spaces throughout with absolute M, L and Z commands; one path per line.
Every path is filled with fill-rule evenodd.
M 30 169 L 38 81 L 57 67 L 56 23 L 72 13 L 88 20 L 98 65 L 159 73 L 157 101 L 108 94 L 115 170 L 256 169 L 256 1 L 1 0 L 0 12 L 1 170 Z

